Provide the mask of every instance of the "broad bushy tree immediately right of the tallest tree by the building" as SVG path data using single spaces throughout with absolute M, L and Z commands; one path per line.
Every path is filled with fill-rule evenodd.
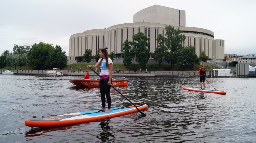
M 199 58 L 194 51 L 195 46 L 186 46 L 183 50 L 184 65 L 189 65 L 189 69 L 193 69 L 194 65 L 199 63 Z

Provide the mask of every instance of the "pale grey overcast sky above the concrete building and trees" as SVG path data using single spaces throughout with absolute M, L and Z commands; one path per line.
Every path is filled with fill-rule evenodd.
M 0 55 L 39 42 L 67 51 L 72 34 L 133 22 L 155 4 L 185 10 L 186 26 L 214 32 L 225 54 L 256 53 L 255 0 L 1 0 Z

